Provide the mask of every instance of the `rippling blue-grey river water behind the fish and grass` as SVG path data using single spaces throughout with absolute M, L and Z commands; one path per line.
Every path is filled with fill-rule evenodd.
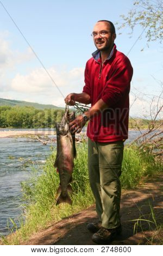
M 127 142 L 133 141 L 139 135 L 139 131 L 129 131 Z M 20 182 L 31 176 L 33 167 L 42 172 L 43 164 L 56 143 L 43 145 L 27 138 L 0 138 L 0 145 L 0 235 L 8 235 L 7 220 L 12 218 L 18 225 L 18 216 L 21 214 Z M 11 222 L 8 223 L 11 226 Z

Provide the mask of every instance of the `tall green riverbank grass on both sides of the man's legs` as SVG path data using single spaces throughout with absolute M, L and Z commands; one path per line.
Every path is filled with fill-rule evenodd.
M 82 211 L 95 203 L 87 174 L 87 144 L 77 147 L 77 159 L 73 170 L 73 205 L 55 206 L 59 175 L 53 167 L 55 151 L 46 161 L 42 174 L 34 172 L 32 178 L 22 182 L 23 215 L 19 218 L 19 226 L 10 220 L 10 231 L 15 233 L 2 237 L 3 243 L 18 245 L 28 240 L 36 231 L 46 228 L 48 224 L 57 222 L 64 217 Z M 122 188 L 136 187 L 142 177 L 155 174 L 161 170 L 152 155 L 137 150 L 136 147 L 124 149 L 121 183 Z

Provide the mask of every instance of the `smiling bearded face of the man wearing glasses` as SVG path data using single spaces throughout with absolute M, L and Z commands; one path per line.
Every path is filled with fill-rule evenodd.
M 105 35 L 99 35 L 99 32 L 109 31 Z M 95 27 L 93 28 L 93 34 L 97 34 L 93 37 L 96 48 L 99 51 L 108 51 L 111 46 L 114 44 L 114 40 L 116 38 L 115 33 L 110 33 L 111 27 L 108 22 L 97 22 Z

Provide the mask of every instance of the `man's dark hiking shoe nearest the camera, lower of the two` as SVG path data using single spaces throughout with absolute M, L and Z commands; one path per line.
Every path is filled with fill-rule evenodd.
M 97 233 L 92 235 L 92 241 L 99 245 L 108 245 L 112 240 L 115 239 L 117 235 L 119 235 L 122 231 L 122 226 L 120 225 L 114 229 L 107 229 L 101 227 Z

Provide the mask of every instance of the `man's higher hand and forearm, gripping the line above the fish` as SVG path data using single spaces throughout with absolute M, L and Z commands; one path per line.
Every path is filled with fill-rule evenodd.
M 73 106 L 76 101 L 84 104 L 91 103 L 91 97 L 87 93 L 70 93 L 65 97 L 65 103 Z

